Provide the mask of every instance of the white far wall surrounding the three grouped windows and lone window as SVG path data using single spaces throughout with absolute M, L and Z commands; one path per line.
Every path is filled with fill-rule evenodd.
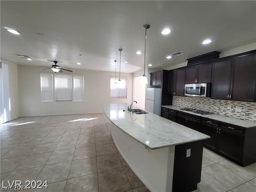
M 84 74 L 83 102 L 41 102 L 40 72 L 39 67 L 18 65 L 20 116 L 96 113 L 108 103 L 132 102 L 133 74 L 121 73 L 128 78 L 127 99 L 110 99 L 110 77 L 115 72 L 91 70 L 73 70 L 73 74 Z

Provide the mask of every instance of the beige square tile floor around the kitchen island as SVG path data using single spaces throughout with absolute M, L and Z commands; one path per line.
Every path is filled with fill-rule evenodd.
M 48 181 L 47 192 L 148 192 L 113 144 L 104 114 L 18 118 L 0 125 L 2 180 Z M 194 192 L 255 192 L 256 163 L 245 168 L 204 148 Z

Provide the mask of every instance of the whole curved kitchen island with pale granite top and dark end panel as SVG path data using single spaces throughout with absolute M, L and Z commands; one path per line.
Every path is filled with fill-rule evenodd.
M 205 134 L 152 113 L 127 111 L 128 104 L 108 104 L 104 113 L 127 164 L 152 192 L 188 192 L 201 179 Z

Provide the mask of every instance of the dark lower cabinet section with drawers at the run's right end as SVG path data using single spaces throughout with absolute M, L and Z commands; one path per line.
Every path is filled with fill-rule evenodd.
M 202 118 L 201 132 L 211 138 L 204 146 L 241 166 L 256 162 L 256 128 L 242 128 Z

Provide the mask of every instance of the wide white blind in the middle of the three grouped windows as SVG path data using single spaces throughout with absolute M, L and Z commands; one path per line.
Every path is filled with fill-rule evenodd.
M 55 74 L 55 101 L 72 101 L 72 74 Z

